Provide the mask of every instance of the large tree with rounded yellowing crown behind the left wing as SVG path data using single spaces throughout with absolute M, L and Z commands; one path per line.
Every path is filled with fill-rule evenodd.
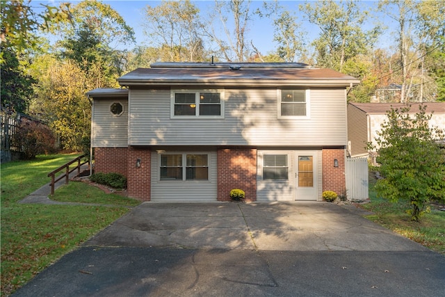
M 134 32 L 111 6 L 82 1 L 72 8 L 72 22 L 62 26 L 60 59 L 71 60 L 96 77 L 95 88 L 113 87 L 127 53 L 115 49 L 134 42 Z

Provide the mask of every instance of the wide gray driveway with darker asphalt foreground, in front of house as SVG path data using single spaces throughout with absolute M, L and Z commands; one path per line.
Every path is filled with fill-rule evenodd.
M 15 296 L 445 296 L 445 257 L 325 202 L 143 203 Z

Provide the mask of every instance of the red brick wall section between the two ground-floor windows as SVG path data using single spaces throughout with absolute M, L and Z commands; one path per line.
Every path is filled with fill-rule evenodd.
M 230 201 L 230 190 L 241 188 L 246 201 L 257 200 L 257 149 L 218 150 L 218 201 Z

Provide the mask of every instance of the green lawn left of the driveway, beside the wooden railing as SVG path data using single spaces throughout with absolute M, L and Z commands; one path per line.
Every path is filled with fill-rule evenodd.
M 38 156 L 1 164 L 1 294 L 8 296 L 49 264 L 78 247 L 138 201 L 81 182 L 56 190 L 52 199 L 112 206 L 19 204 L 50 180 L 48 172 L 78 154 Z

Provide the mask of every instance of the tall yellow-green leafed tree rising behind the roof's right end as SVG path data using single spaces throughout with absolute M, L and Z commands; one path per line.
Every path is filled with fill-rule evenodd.
M 319 67 L 343 72 L 346 61 L 367 54 L 380 34 L 380 27 L 364 31 L 368 11 L 360 10 L 357 1 L 316 1 L 300 5 L 312 24 L 321 30 L 312 45 Z

